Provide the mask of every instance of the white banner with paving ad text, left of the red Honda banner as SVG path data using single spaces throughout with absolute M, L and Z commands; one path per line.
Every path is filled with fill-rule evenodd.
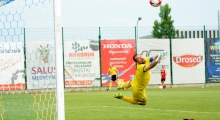
M 100 86 L 99 41 L 64 41 L 65 86 Z

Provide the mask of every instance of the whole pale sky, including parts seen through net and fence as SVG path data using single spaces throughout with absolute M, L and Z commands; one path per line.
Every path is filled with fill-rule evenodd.
M 54 27 L 54 22 L 52 22 L 54 21 L 53 0 L 11 1 L 13 2 L 0 7 L 0 20 L 3 21 L 0 22 L 0 28 L 3 28 L 3 35 L 8 35 L 8 28 L 12 31 L 14 31 L 13 28 L 18 28 L 18 31 L 20 31 L 19 28 L 24 27 L 33 29 Z M 92 38 L 97 38 L 97 34 L 99 34 L 98 27 L 101 27 L 102 37 L 124 38 L 126 36 L 133 38 L 138 17 L 142 18 L 138 21 L 138 36 L 145 36 L 151 34 L 154 21 L 160 21 L 160 7 L 152 7 L 149 3 L 150 0 L 60 1 L 61 26 L 65 28 L 67 34 L 65 36 L 68 39 L 73 39 L 73 32 L 79 36 L 74 35 L 74 39 L 91 38 L 92 35 L 94 35 Z M 203 30 L 203 26 L 206 26 L 206 29 L 220 29 L 220 27 L 218 28 L 220 0 L 162 0 L 162 5 L 165 4 L 168 4 L 171 8 L 170 15 L 174 20 L 175 29 Z M 66 29 L 67 27 L 70 29 Z M 77 27 L 94 27 L 94 29 L 78 29 Z M 103 27 L 123 29 L 113 30 L 104 29 Z M 92 34 L 91 31 L 95 33 Z M 29 30 L 26 32 L 30 32 L 28 35 L 34 38 L 37 37 L 32 34 L 49 34 L 47 31 L 33 32 Z M 15 33 L 17 34 L 17 32 Z M 105 33 L 109 34 L 105 35 Z M 36 36 L 39 36 L 38 34 Z

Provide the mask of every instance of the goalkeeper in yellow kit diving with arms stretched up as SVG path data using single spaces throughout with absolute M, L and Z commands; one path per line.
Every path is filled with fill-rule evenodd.
M 167 51 L 163 51 L 154 57 L 141 57 L 141 55 L 135 54 L 133 60 L 137 64 L 137 70 L 134 79 L 118 86 L 118 89 L 131 87 L 133 97 L 127 97 L 121 93 L 115 94 L 113 97 L 136 105 L 146 105 L 146 87 L 150 82 L 150 70 L 160 63 L 166 54 Z

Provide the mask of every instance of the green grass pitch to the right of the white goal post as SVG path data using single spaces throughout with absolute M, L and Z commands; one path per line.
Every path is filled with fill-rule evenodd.
M 130 90 L 65 94 L 66 120 L 220 120 L 220 87 L 148 89 L 146 106 L 112 97 Z

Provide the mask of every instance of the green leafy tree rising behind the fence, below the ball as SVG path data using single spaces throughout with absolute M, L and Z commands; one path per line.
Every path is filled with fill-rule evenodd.
M 178 30 L 175 30 L 173 26 L 174 20 L 172 20 L 170 12 L 171 8 L 168 4 L 160 6 L 159 16 L 161 18 L 161 21 L 154 21 L 152 31 L 152 36 L 154 38 L 170 38 L 170 36 L 172 36 L 172 38 L 175 38 Z

